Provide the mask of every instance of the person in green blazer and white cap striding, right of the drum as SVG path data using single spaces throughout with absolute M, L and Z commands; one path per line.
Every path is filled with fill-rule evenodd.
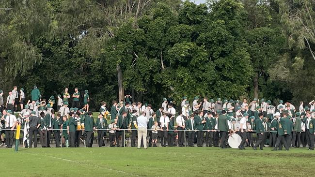
M 278 126 L 277 126 L 278 137 L 276 140 L 275 147 L 272 150 L 277 150 L 277 148 L 279 148 L 279 150 L 282 150 L 282 144 L 284 144 L 285 150 L 289 150 L 289 146 L 287 145 L 285 138 L 284 138 L 284 134 L 286 134 L 286 129 L 287 129 L 286 124 L 285 124 L 285 120 L 284 120 L 284 118 L 280 118 L 279 112 L 277 112 L 275 114 L 275 118 L 277 118 L 279 121 Z M 284 130 L 285 130 L 285 132 L 284 132 Z

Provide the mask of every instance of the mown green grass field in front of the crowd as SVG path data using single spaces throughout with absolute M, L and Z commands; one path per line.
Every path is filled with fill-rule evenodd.
M 0 149 L 1 176 L 314 176 L 315 151 L 220 148 Z

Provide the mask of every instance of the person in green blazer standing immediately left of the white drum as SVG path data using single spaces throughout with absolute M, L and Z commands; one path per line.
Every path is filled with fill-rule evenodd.
M 229 131 L 229 125 L 227 123 L 227 117 L 225 116 L 225 110 L 218 110 L 217 113 L 220 115 L 218 118 L 218 130 L 221 136 L 221 148 L 226 148 L 226 137 Z

